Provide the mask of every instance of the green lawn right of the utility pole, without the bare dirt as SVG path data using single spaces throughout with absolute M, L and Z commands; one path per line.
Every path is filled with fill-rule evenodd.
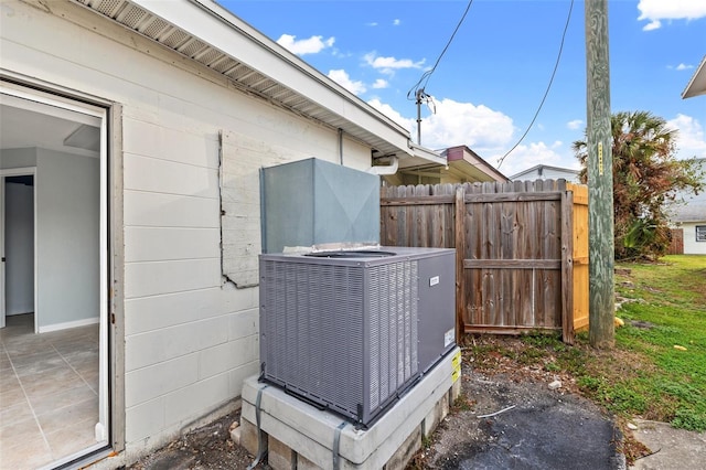
M 601 398 L 616 412 L 706 430 L 706 256 L 617 267 L 630 274 L 616 276 L 616 292 L 639 300 L 617 312 L 625 321 L 617 352 L 635 354 L 640 366 L 599 387 Z

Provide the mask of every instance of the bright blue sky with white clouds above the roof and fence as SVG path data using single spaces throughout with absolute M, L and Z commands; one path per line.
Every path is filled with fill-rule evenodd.
M 467 0 L 220 0 L 417 139 L 414 90 L 434 67 Z M 512 175 L 578 168 L 586 126 L 582 1 L 474 0 L 425 84 L 421 145 L 466 145 Z M 682 92 L 706 56 L 705 0 L 609 0 L 611 108 L 648 110 L 678 129 L 678 158 L 706 157 L 706 96 Z M 411 96 L 408 93 L 411 90 Z M 436 109 L 432 113 L 431 109 Z M 517 145 L 517 142 L 520 143 Z

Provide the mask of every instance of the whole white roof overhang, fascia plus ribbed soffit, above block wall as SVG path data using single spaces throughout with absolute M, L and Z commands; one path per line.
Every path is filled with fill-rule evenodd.
M 409 131 L 212 0 L 77 0 L 227 77 L 234 87 L 315 119 L 382 157 L 416 151 Z

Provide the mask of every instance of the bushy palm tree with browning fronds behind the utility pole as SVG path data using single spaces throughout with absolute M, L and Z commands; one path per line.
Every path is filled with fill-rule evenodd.
M 674 158 L 677 131 L 661 117 L 649 111 L 616 113 L 611 129 L 616 259 L 662 256 L 671 239 L 665 202 L 681 190 L 699 191 L 699 170 L 694 159 Z M 586 141 L 574 142 L 573 149 L 586 183 Z

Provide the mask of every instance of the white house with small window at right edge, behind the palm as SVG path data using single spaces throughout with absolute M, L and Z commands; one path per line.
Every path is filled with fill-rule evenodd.
M 706 169 L 706 158 L 698 161 Z M 706 192 L 680 194 L 677 203 L 668 209 L 668 214 L 673 238 L 683 241 L 677 243 L 683 248 L 673 248 L 672 253 L 706 255 Z

